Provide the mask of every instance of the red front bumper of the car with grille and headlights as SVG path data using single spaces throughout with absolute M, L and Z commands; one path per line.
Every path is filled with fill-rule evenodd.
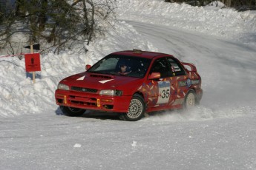
M 104 112 L 128 112 L 132 96 L 108 96 L 56 89 L 55 98 L 59 106 Z

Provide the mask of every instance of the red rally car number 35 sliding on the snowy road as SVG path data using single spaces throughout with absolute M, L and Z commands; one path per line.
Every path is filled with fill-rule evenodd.
M 86 70 L 58 84 L 56 104 L 65 115 L 89 109 L 134 121 L 145 112 L 194 106 L 203 95 L 194 64 L 160 52 L 114 52 Z

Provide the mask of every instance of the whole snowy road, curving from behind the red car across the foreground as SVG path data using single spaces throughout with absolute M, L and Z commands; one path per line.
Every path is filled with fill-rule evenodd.
M 170 27 L 128 23 L 160 52 L 197 65 L 201 105 L 138 122 L 68 118 L 51 109 L 1 118 L 0 169 L 256 169 L 256 51 Z

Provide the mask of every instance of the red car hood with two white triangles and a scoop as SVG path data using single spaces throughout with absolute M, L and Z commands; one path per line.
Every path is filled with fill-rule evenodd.
M 82 72 L 63 79 L 60 83 L 68 86 L 79 86 L 91 89 L 136 89 L 142 84 L 143 78 L 121 75 L 103 75 Z

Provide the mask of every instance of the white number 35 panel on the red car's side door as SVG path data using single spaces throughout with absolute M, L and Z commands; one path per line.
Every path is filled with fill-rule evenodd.
M 159 95 L 157 104 L 168 103 L 171 90 L 170 90 L 170 81 L 158 81 Z

